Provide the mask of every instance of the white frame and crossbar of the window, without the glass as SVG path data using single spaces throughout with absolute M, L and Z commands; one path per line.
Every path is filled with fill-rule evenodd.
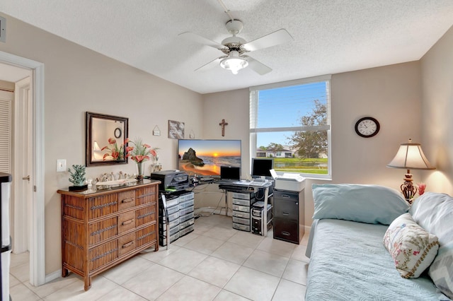
M 309 179 L 332 179 L 332 139 L 331 139 L 331 75 L 314 76 L 311 78 L 302 78 L 294 81 L 283 81 L 280 83 L 270 83 L 267 85 L 256 85 L 249 88 L 250 93 L 250 158 L 256 157 L 256 141 L 258 133 L 275 132 L 275 131 L 327 131 L 328 143 L 328 173 L 326 175 L 300 173 L 303 177 Z M 317 83 L 320 81 L 327 82 L 328 99 L 327 99 L 327 124 L 323 126 L 290 126 L 290 127 L 273 127 L 257 128 L 258 123 L 258 98 L 257 91 L 274 88 L 283 88 L 291 85 L 302 85 L 306 83 Z M 251 161 L 251 160 L 250 160 Z M 288 173 L 288 172 L 286 172 Z

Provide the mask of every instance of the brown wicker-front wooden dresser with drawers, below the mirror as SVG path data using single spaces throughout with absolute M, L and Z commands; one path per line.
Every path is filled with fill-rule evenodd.
M 157 240 L 160 182 L 144 179 L 130 186 L 81 192 L 65 189 L 62 196 L 62 276 L 102 273 L 149 247 Z

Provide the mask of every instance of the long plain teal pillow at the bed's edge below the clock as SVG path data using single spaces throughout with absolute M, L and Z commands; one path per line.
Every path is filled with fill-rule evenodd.
M 408 212 L 399 191 L 379 185 L 313 184 L 313 219 L 333 218 L 390 225 Z

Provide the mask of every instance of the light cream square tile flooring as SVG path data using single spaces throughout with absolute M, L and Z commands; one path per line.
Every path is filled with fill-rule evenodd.
M 231 218 L 195 220 L 195 230 L 169 249 L 134 256 L 93 277 L 84 291 L 81 277 L 35 288 L 28 282 L 28 254 L 12 254 L 10 295 L 21 300 L 304 300 L 306 239 L 301 244 L 231 228 Z

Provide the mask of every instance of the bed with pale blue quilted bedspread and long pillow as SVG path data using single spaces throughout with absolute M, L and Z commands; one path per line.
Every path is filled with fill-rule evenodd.
M 407 212 L 409 206 L 396 200 L 399 196 L 392 199 L 391 192 L 388 196 L 393 207 L 391 212 L 385 212 L 382 208 L 388 203 L 381 197 L 373 200 L 371 196 L 369 200 L 369 189 L 386 194 L 386 188 L 365 187 L 365 197 L 360 191 L 364 187 L 347 185 L 340 185 L 340 189 L 333 184 L 314 185 L 315 213 L 306 252 L 310 263 L 305 300 L 450 300 L 433 283 L 428 270 L 418 278 L 401 277 L 384 247 L 383 237 L 389 224 Z M 367 201 L 357 203 L 350 198 Z M 329 203 L 332 201 L 334 204 Z M 381 208 L 373 207 L 374 201 Z M 349 220 L 364 211 L 368 211 L 367 215 L 359 220 L 365 222 Z M 383 215 L 384 220 L 379 220 Z

